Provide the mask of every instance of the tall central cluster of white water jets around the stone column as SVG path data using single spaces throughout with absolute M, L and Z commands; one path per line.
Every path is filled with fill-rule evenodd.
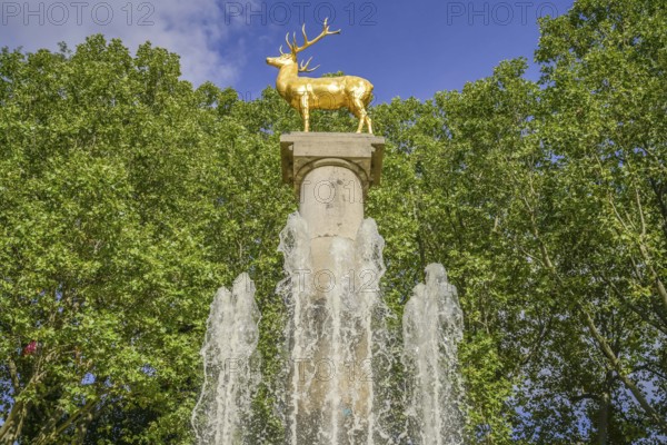
M 298 212 L 280 234 L 287 278 L 278 289 L 290 314 L 288 444 L 375 443 L 372 357 L 382 335 L 374 314 L 382 306 L 384 244 L 366 219 L 356 240 L 332 239 L 330 269 L 313 270 Z

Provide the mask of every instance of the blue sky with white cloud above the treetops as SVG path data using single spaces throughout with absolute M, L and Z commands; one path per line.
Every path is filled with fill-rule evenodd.
M 285 33 L 306 22 L 309 37 L 330 18 L 329 36 L 305 51 L 320 68 L 341 70 L 375 85 L 377 101 L 460 89 L 489 76 L 504 59 L 532 60 L 537 18 L 559 16 L 571 0 L 550 1 L 17 1 L 2 2 L 0 44 L 33 51 L 70 47 L 86 36 L 119 37 L 133 52 L 150 40 L 181 56 L 183 78 L 210 80 L 256 98 L 277 75 L 266 65 L 278 55 Z M 283 47 L 285 49 L 285 47 Z M 536 79 L 532 67 L 528 77 Z

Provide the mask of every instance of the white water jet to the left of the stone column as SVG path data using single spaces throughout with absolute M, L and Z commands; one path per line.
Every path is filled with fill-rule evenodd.
M 248 274 L 238 276 L 231 293 L 225 287 L 218 289 L 201 348 L 205 383 L 192 413 L 199 445 L 252 443 L 243 433 L 260 378 L 256 357 L 259 318 L 255 284 Z

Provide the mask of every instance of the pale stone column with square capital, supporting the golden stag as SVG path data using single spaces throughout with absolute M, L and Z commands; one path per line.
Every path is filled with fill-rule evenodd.
M 331 340 L 331 307 L 338 298 L 336 291 L 328 291 L 327 280 L 331 279 L 331 270 L 351 270 L 355 267 L 354 243 L 357 231 L 364 220 L 364 201 L 370 186 L 378 185 L 382 166 L 385 139 L 365 134 L 325 134 L 325 132 L 292 132 L 280 138 L 282 178 L 295 187 L 299 198 L 299 212 L 306 220 L 310 235 L 310 254 L 312 271 L 309 274 L 313 288 L 309 317 L 316 319 L 312 330 L 318 338 L 313 345 L 315 355 L 309 357 L 311 365 L 302 372 L 316 372 L 320 360 L 329 360 L 336 354 L 336 345 Z M 337 256 L 331 249 L 349 247 L 350 255 Z M 352 277 L 355 281 L 358 276 Z M 338 280 L 341 277 L 337 277 Z M 340 283 L 335 283 L 340 285 Z M 342 314 L 345 310 L 337 312 Z M 349 320 L 342 320 L 348 323 Z M 351 322 L 350 322 L 351 323 Z M 349 328 L 349 325 L 348 325 Z M 361 362 L 370 358 L 367 355 L 369 338 L 359 333 L 355 345 L 346 345 L 355 349 L 355 359 Z M 317 444 L 354 444 L 366 442 L 361 433 L 350 434 L 349 431 L 368 422 L 371 400 L 365 398 L 372 392 L 366 386 L 370 383 L 350 382 L 344 369 L 344 364 L 332 363 L 337 375 L 334 379 L 319 382 L 317 379 L 305 384 L 301 389 L 305 397 L 298 404 L 297 438 L 292 443 Z M 340 406 L 331 403 L 331 385 L 340 396 Z M 337 409 L 351 413 L 339 415 Z M 337 417 L 338 416 L 338 417 Z M 334 442 L 322 439 L 322 425 L 330 423 Z M 331 426 L 332 425 L 332 426 Z M 352 427 L 351 425 L 356 425 Z

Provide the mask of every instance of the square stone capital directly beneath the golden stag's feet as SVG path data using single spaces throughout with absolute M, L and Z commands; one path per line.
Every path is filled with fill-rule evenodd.
M 380 184 L 385 138 L 354 132 L 288 132 L 280 136 L 282 181 L 293 184 L 299 194 L 301 181 L 313 168 L 341 166 L 355 171 L 366 192 Z

